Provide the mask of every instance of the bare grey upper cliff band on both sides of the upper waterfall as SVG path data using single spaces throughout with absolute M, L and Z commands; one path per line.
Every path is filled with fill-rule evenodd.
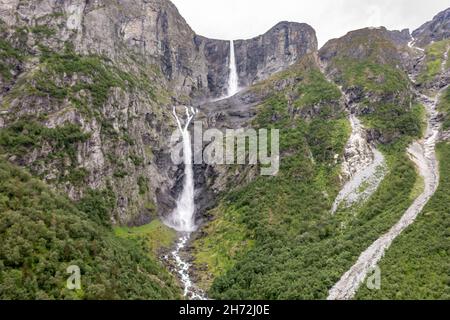
M 157 66 L 180 99 L 220 97 L 229 76 L 229 41 L 196 35 L 168 0 L 5 0 L 0 19 L 8 27 L 35 28 L 52 49 L 71 42 L 81 54 L 122 63 L 130 53 Z M 45 30 L 44 30 L 45 29 Z M 317 50 L 314 30 L 282 22 L 264 35 L 235 43 L 241 86 L 281 71 Z

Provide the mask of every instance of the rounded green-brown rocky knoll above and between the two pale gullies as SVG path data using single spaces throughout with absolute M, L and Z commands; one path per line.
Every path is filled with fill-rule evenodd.
M 398 67 L 399 49 L 377 31 L 360 33 L 339 39 L 339 51 L 329 62 L 329 69 L 337 71 L 334 80 L 357 93 L 358 109 L 365 109 L 364 123 L 381 133 L 385 141 L 420 135 L 420 122 L 416 120 L 422 109 L 417 105 L 410 109 L 410 83 Z M 322 50 L 325 54 L 329 49 Z

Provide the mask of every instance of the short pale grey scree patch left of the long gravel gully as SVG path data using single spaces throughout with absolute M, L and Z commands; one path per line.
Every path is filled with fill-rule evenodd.
M 331 213 L 341 204 L 350 207 L 368 199 L 378 188 L 386 173 L 383 154 L 367 141 L 366 130 L 355 115 L 350 115 L 352 133 L 344 151 L 342 174 L 348 178 L 336 197 Z

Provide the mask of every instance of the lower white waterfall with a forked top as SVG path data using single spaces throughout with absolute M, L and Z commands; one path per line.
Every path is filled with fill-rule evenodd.
M 196 229 L 194 217 L 194 170 L 192 167 L 192 147 L 189 124 L 194 118 L 196 111 L 192 107 L 185 107 L 185 109 L 186 119 L 184 126 L 181 124 L 175 108 L 173 109 L 173 115 L 177 120 L 178 130 L 183 139 L 184 182 L 183 190 L 177 201 L 177 207 L 170 215 L 168 224 L 170 227 L 180 232 L 193 232 Z

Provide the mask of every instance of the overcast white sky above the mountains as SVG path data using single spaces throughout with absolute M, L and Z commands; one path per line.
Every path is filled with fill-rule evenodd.
M 306 22 L 319 47 L 348 31 L 385 26 L 416 29 L 449 0 L 171 0 L 194 31 L 216 39 L 247 39 L 276 23 Z

